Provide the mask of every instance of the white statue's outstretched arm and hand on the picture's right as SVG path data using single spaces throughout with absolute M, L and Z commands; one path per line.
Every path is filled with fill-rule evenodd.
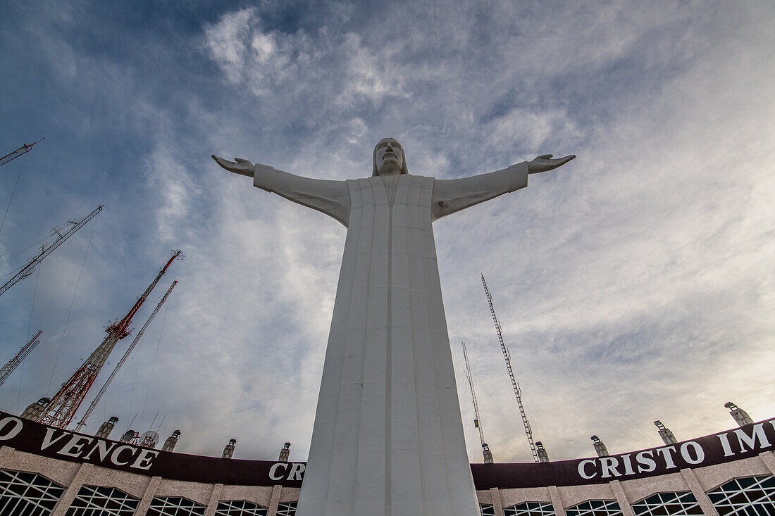
M 574 155 L 552 159 L 543 154 L 530 162 L 523 161 L 511 167 L 460 179 L 437 179 L 433 184 L 431 212 L 433 219 L 442 218 L 454 212 L 489 201 L 498 195 L 524 188 L 528 185 L 528 174 L 538 174 L 561 167 L 574 159 Z

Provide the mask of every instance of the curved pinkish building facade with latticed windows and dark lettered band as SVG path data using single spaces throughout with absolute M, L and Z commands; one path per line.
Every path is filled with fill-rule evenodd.
M 0 445 L 0 516 L 291 516 L 305 470 L 143 448 L 2 412 Z M 775 419 L 614 456 L 471 468 L 485 516 L 770 516 L 773 449 Z

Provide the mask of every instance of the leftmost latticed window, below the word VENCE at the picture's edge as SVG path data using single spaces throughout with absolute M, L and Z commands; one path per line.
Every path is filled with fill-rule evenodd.
M 63 493 L 37 473 L 0 470 L 0 516 L 47 516 Z

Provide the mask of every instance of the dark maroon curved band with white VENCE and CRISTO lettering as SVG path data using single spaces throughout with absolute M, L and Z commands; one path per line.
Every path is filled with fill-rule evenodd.
M 301 487 L 305 463 L 219 459 L 162 452 L 52 428 L 0 412 L 0 445 L 53 459 L 91 463 L 191 482 Z M 572 486 L 631 480 L 746 459 L 775 449 L 775 419 L 674 445 L 553 463 L 472 464 L 477 489 Z

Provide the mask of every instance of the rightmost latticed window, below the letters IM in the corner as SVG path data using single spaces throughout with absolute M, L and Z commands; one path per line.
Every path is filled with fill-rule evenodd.
M 770 516 L 775 514 L 775 477 L 736 478 L 708 492 L 721 516 Z

